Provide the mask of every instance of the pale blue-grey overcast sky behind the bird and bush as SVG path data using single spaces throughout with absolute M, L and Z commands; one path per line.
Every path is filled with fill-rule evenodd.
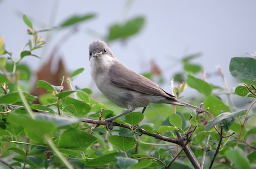
M 6 49 L 14 57 L 27 43 L 27 27 L 22 21 L 26 14 L 38 30 L 57 26 L 74 14 L 95 13 L 97 17 L 78 26 L 78 32 L 62 44 L 58 57 L 63 57 L 69 71 L 85 68 L 73 84 L 82 88 L 94 88 L 91 83 L 88 44 L 106 35 L 111 24 L 144 16 L 142 31 L 127 40 L 109 44 L 116 58 L 131 69 L 144 73 L 150 70 L 150 62 L 158 64 L 166 80 L 182 70 L 177 59 L 184 55 L 202 53 L 194 63 L 204 66 L 206 73 L 217 71 L 220 65 L 228 83 L 235 81 L 228 71 L 232 57 L 249 57 L 245 53 L 256 50 L 256 1 L 0 1 L 0 35 Z M 24 62 L 36 70 L 47 61 L 52 48 L 60 43 L 70 29 L 52 32 L 52 39 L 38 55 L 43 59 L 25 58 Z M 98 34 L 92 34 L 93 30 Z M 45 33 L 41 34 L 43 37 Z M 176 58 L 176 59 L 174 59 Z M 219 76 L 207 79 L 223 86 Z M 164 86 L 169 91 L 169 86 Z

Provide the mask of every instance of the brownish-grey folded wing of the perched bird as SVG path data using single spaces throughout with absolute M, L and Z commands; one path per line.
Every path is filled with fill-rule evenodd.
M 111 66 L 109 76 L 111 83 L 119 88 L 125 88 L 148 95 L 164 96 L 166 98 L 175 99 L 175 96 L 166 93 L 153 81 L 140 74 L 137 74 L 135 71 L 127 68 L 121 62 L 117 62 Z

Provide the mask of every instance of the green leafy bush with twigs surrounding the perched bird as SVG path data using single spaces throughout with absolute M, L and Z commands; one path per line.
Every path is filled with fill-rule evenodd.
M 74 16 L 60 26 L 72 26 L 93 17 L 94 14 Z M 106 40 L 130 38 L 140 32 L 144 20 L 140 16 L 113 24 Z M 58 86 L 38 80 L 37 88 L 47 91 L 38 98 L 27 91 L 32 75 L 21 60 L 38 57 L 35 50 L 46 43 L 39 37 L 41 32 L 61 28 L 35 30 L 26 16 L 23 21 L 31 39 L 17 59 L 4 48 L 0 38 L 1 168 L 256 168 L 256 127 L 250 121 L 256 103 L 254 55 L 230 60 L 231 75 L 241 81 L 234 91 L 227 85 L 215 86 L 196 78 L 203 67 L 191 60 L 198 55 L 181 60 L 184 71 L 175 75 L 175 81 L 185 78 L 186 83 L 174 88 L 174 94 L 179 97 L 188 84 L 200 97 L 187 102 L 204 102 L 210 114 L 152 104 L 145 114 L 132 112 L 120 117 L 114 122 L 114 129 L 107 131 L 103 120 L 120 113 L 120 109 L 108 109 L 92 99 L 90 89 L 72 88 L 72 78 L 79 76 L 83 68 L 64 77 Z M 63 90 L 63 83 L 70 85 L 70 90 Z M 220 94 L 227 95 L 228 103 Z M 234 95 L 243 102 L 235 105 Z

